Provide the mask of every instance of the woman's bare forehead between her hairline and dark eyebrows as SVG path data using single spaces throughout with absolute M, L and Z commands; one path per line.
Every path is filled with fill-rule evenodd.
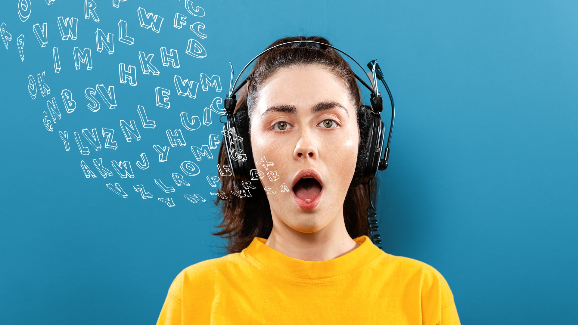
M 294 105 L 299 109 L 323 101 L 335 101 L 347 110 L 353 109 L 349 91 L 342 80 L 328 69 L 314 65 L 283 68 L 261 84 L 255 103 L 255 113 L 270 106 Z

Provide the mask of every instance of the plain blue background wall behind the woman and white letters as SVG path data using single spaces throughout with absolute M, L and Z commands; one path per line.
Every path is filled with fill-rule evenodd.
M 380 233 L 386 252 L 416 258 L 447 279 L 463 324 L 569 324 L 575 320 L 576 211 L 578 210 L 578 3 L 575 1 L 195 1 L 206 10 L 192 17 L 184 1 L 135 1 L 112 6 L 96 0 L 99 23 L 84 17 L 83 1 L 31 0 L 20 21 L 17 1 L 2 1 L 0 23 L 12 34 L 0 43 L 2 96 L 2 217 L 0 323 L 153 324 L 173 278 L 188 265 L 223 256 L 224 240 L 203 158 L 198 176 L 183 189 L 171 180 L 193 160 L 190 145 L 205 145 L 220 123 L 187 131 L 179 115 L 202 117 L 236 72 L 283 36 L 327 37 L 365 63 L 376 58 L 394 95 L 397 114 L 390 167 L 380 172 Z M 164 18 L 160 33 L 139 26 L 137 8 Z M 206 25 L 206 39 L 172 25 L 175 13 Z M 78 18 L 76 40 L 61 40 L 57 17 Z M 196 18 L 196 19 L 195 19 Z M 118 42 L 118 20 L 135 43 Z M 48 23 L 40 47 L 32 25 Z M 95 49 L 94 32 L 114 34 L 114 53 Z M 16 39 L 24 34 L 24 61 Z M 205 58 L 184 53 L 187 40 Z M 74 68 L 72 48 L 92 50 L 94 68 Z M 181 67 L 163 67 L 160 47 L 177 49 Z M 62 70 L 55 73 L 52 49 Z M 153 53 L 160 75 L 143 75 L 138 52 Z M 118 64 L 137 69 L 136 87 L 118 82 Z M 27 77 L 46 71 L 50 95 L 32 99 Z M 199 81 L 219 75 L 223 91 L 195 99 L 176 95 L 172 78 Z M 91 112 L 87 87 L 114 86 L 117 108 Z M 155 106 L 154 88 L 171 90 L 171 108 Z M 60 92 L 72 91 L 77 108 L 66 113 Z M 46 100 L 55 97 L 62 119 L 42 124 Z M 98 95 L 97 95 L 97 98 Z M 367 100 L 367 99 L 366 99 Z M 101 102 L 102 104 L 102 102 Z M 143 105 L 154 129 L 140 124 Z M 387 106 L 386 106 L 387 107 Z M 387 111 L 387 109 L 386 109 Z M 384 116 L 388 125 L 388 115 Z M 135 120 L 140 141 L 125 141 L 119 120 Z M 114 128 L 118 149 L 81 155 L 73 132 Z M 153 144 L 170 146 L 168 129 L 180 128 L 185 147 L 157 161 Z M 68 152 L 58 136 L 68 131 Z M 101 138 L 102 144 L 103 139 Z M 136 168 L 146 152 L 150 168 Z M 216 150 L 214 150 L 216 154 Z M 80 160 L 102 157 L 113 176 L 87 179 Z M 110 160 L 131 161 L 133 179 L 121 179 Z M 176 187 L 164 193 L 160 178 Z M 121 198 L 106 188 L 120 183 Z M 154 198 L 143 200 L 132 186 Z M 198 193 L 193 204 L 184 194 Z M 173 197 L 169 207 L 159 197 Z M 386 294 L 386 293 L 384 293 Z

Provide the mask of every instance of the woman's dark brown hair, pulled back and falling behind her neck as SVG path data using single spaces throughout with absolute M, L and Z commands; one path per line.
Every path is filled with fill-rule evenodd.
M 297 40 L 314 40 L 316 42 L 331 45 L 329 41 L 319 36 L 294 36 L 281 38 L 273 42 L 267 48 L 282 43 Z M 322 47 L 315 49 L 312 47 L 292 47 L 295 43 L 287 46 L 278 46 L 262 54 L 257 61 L 247 80 L 246 87 L 239 91 L 239 99 L 235 106 L 235 112 L 243 106 L 249 109 L 249 117 L 253 111 L 253 102 L 258 97 L 260 85 L 266 79 L 271 77 L 279 69 L 294 67 L 296 65 L 318 65 L 325 67 L 344 83 L 349 90 L 349 95 L 354 106 L 358 108 L 363 105 L 361 99 L 361 90 L 357 80 L 353 75 L 350 65 L 343 59 L 340 54 L 331 47 Z M 312 44 L 312 43 L 305 43 Z M 249 94 L 249 96 L 247 96 Z M 359 109 L 358 109 L 359 111 Z M 360 112 L 357 112 L 358 123 L 360 123 Z M 361 124 L 360 124 L 361 125 Z M 361 139 L 360 139 L 361 143 Z M 221 142 L 218 153 L 218 163 L 227 164 L 225 146 Z M 247 156 L 250 151 L 247 150 Z M 213 232 L 223 238 L 227 238 L 228 245 L 224 246 L 228 253 L 238 253 L 249 246 L 254 237 L 268 238 L 273 228 L 271 217 L 271 208 L 269 200 L 266 197 L 265 190 L 258 187 L 257 190 L 250 190 L 251 197 L 240 198 L 230 195 L 231 191 L 244 190 L 240 181 L 234 176 L 220 176 L 221 189 L 225 192 L 227 199 L 223 200 L 217 197 L 214 202 L 216 205 L 221 204 L 223 211 L 223 221 L 218 225 L 221 231 Z M 368 184 L 350 186 L 343 202 L 343 217 L 348 234 L 351 238 L 357 238 L 361 235 L 369 236 L 369 222 L 367 219 L 366 209 L 369 206 L 369 187 L 373 201 L 375 202 L 375 179 Z

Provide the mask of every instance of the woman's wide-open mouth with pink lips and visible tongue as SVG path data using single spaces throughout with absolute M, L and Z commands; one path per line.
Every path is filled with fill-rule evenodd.
M 291 190 L 299 208 L 311 210 L 321 200 L 323 181 L 316 171 L 305 169 L 297 173 L 297 176 L 293 179 Z

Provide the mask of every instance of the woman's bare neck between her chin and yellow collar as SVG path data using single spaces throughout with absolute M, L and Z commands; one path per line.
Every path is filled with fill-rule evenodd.
M 297 231 L 276 217 L 275 213 L 271 214 L 273 229 L 265 245 L 289 257 L 304 261 L 325 261 L 360 246 L 347 233 L 343 209 L 331 223 L 314 232 Z

